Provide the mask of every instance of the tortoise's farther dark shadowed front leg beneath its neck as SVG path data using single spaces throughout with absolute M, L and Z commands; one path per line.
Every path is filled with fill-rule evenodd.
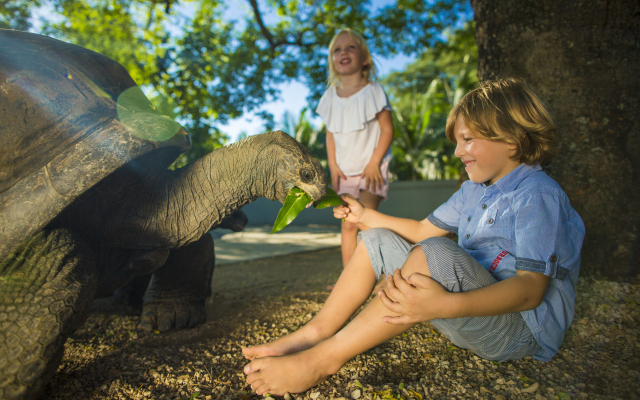
M 211 295 L 214 264 L 213 239 L 209 234 L 171 250 L 167 262 L 153 274 L 140 326 L 168 331 L 204 322 L 204 303 Z

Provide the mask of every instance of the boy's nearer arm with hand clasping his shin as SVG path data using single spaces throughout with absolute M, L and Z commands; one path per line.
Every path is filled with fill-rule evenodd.
M 467 292 L 448 292 L 431 277 L 419 273 L 406 280 L 396 270 L 387 280 L 380 300 L 399 317 L 385 317 L 392 324 L 430 321 L 437 318 L 482 317 L 532 310 L 544 298 L 549 277 L 518 270 L 516 275 Z

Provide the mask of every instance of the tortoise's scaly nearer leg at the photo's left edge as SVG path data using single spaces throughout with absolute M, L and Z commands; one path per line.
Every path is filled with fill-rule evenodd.
M 96 281 L 91 250 L 64 229 L 38 233 L 0 263 L 0 399 L 39 398 Z

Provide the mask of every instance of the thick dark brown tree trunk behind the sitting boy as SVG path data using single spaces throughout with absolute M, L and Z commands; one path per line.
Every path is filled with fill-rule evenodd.
M 582 273 L 638 276 L 640 3 L 471 0 L 481 80 L 524 78 L 554 111 L 549 174 L 586 226 Z

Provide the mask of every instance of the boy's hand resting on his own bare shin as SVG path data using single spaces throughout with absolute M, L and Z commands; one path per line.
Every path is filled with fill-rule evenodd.
M 396 269 L 387 278 L 387 287 L 378 296 L 390 311 L 401 314 L 385 316 L 384 322 L 396 325 L 415 324 L 438 318 L 453 318 L 453 296 L 427 275 L 413 273 L 405 280 Z

